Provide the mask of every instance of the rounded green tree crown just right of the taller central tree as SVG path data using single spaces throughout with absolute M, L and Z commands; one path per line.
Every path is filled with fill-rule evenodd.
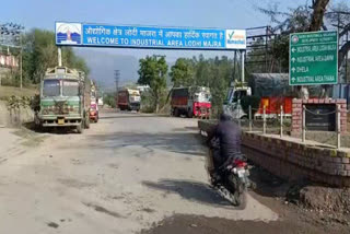
M 174 87 L 190 86 L 194 84 L 194 60 L 179 58 L 171 69 L 170 73 Z

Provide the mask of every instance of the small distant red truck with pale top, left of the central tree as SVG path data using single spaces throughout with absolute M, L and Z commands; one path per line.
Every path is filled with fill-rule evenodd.
M 118 91 L 117 106 L 120 110 L 140 110 L 141 95 L 139 90 L 124 89 Z

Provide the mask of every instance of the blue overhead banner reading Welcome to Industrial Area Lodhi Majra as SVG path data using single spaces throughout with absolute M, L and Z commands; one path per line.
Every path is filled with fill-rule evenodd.
M 246 49 L 245 30 L 56 23 L 56 45 L 162 49 Z

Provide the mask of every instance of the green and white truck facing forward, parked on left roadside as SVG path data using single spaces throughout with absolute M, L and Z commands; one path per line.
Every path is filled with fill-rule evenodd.
M 40 102 L 35 115 L 39 128 L 90 128 L 91 81 L 84 72 L 67 67 L 47 69 L 40 82 Z

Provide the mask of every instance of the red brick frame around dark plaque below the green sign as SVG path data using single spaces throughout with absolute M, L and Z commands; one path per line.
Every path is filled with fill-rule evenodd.
M 340 106 L 340 129 L 341 132 L 347 131 L 347 101 L 346 100 L 329 100 L 329 98 L 310 98 L 310 100 L 293 100 L 292 106 L 292 136 L 296 137 L 302 133 L 303 126 L 303 105 L 306 104 L 328 104 Z

